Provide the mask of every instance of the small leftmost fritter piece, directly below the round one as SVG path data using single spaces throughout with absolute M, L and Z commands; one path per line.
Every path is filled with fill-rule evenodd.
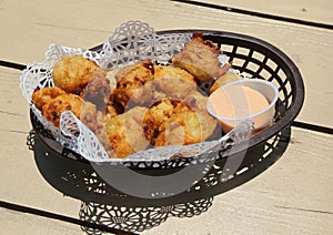
M 46 103 L 50 102 L 61 94 L 65 94 L 65 91 L 61 90 L 60 88 L 43 88 L 41 90 L 34 90 L 31 100 L 34 103 L 36 108 L 41 110 Z

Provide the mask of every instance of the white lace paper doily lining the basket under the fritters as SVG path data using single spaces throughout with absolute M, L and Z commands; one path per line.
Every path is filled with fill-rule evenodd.
M 31 101 L 31 95 L 37 88 L 43 89 L 54 85 L 51 76 L 53 65 L 64 55 L 81 54 L 94 61 L 102 69 L 122 68 L 143 59 L 151 59 L 153 62 L 160 64 L 169 64 L 172 55 L 182 51 L 191 39 L 191 33 L 158 35 L 149 24 L 141 21 L 129 21 L 121 24 L 114 31 L 103 44 L 101 52 L 51 44 L 46 52 L 44 62 L 28 64 L 27 69 L 23 70 L 20 76 L 20 88 L 23 96 L 30 103 L 32 112 L 54 140 L 91 162 L 149 162 L 164 161 L 172 157 L 194 157 L 226 149 L 243 140 L 249 140 L 252 122 L 244 121 L 218 141 L 201 142 L 183 146 L 171 145 L 149 149 L 137 152 L 124 160 L 110 159 L 93 132 L 82 124 L 71 111 L 65 111 L 61 114 L 60 129 L 58 129 L 41 114 L 41 111 L 38 110 Z M 225 55 L 220 57 L 219 60 L 221 67 L 228 62 Z M 230 140 L 231 143 L 228 142 Z

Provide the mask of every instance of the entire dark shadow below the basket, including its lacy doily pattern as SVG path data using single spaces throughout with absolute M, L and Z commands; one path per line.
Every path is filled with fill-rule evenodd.
M 91 164 L 78 161 L 74 153 L 64 147 L 61 153 L 54 152 L 59 149 L 49 146 L 58 143 L 50 139 L 47 140 L 50 143 L 46 144 L 46 140 L 41 141 L 33 130 L 27 137 L 27 145 L 33 151 L 36 164 L 44 180 L 64 195 L 82 202 L 79 213 L 81 219 L 122 231 L 142 232 L 159 226 L 171 216 L 192 217 L 206 212 L 215 195 L 244 184 L 273 165 L 286 150 L 290 136 L 291 127 L 287 127 L 248 150 L 245 155 L 220 159 L 191 187 L 161 198 L 135 197 L 118 191 L 105 183 Z M 234 161 L 242 157 L 235 171 L 226 166 L 231 157 Z M 171 168 L 163 174 L 174 171 Z M 144 170 L 138 172 L 144 173 Z M 82 229 L 88 234 L 102 233 L 88 227 Z

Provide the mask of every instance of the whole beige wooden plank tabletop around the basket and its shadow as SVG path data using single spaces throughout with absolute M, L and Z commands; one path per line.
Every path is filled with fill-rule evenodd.
M 333 127 L 333 3 L 322 1 L 1 1 L 0 2 L 0 233 L 82 234 L 81 202 L 63 196 L 41 176 L 27 146 L 29 105 L 21 95 L 18 64 L 43 61 L 49 44 L 92 48 L 122 22 L 141 20 L 155 30 L 209 29 L 265 40 L 299 67 L 305 102 L 296 121 Z M 220 7 L 219 7 L 220 6 Z M 225 11 L 222 7 L 229 7 Z M 239 10 L 241 13 L 236 13 Z M 253 17 L 246 12 L 261 12 Z M 280 16 L 286 21 L 269 19 Z M 287 22 L 296 19 L 304 24 Z M 306 25 L 317 22 L 317 25 Z M 252 181 L 214 196 L 206 212 L 165 222 L 142 234 L 332 234 L 332 133 L 291 127 L 282 157 Z M 8 204 L 9 203 L 9 204 Z M 11 208 L 6 208 L 10 205 Z M 60 219 L 22 213 L 49 212 Z M 29 211 L 30 210 L 30 211 Z

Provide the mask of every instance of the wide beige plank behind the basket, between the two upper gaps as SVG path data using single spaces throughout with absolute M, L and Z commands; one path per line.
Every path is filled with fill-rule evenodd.
M 34 2 L 42 8 L 33 8 L 29 1 L 2 4 L 0 25 L 6 37 L 0 38 L 0 59 L 18 63 L 43 61 L 51 43 L 72 48 L 103 43 L 117 27 L 133 19 L 149 22 L 157 30 L 213 29 L 263 39 L 284 51 L 301 70 L 306 101 L 299 120 L 333 126 L 332 113 L 317 115 L 330 108 L 333 99 L 333 84 L 326 79 L 332 65 L 333 31 L 170 1 Z

